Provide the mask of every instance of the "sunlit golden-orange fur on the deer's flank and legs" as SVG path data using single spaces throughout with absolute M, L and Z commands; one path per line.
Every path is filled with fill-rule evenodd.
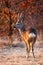
M 19 32 L 21 34 L 22 40 L 24 41 L 24 45 L 25 45 L 25 48 L 26 48 L 26 57 L 28 58 L 29 57 L 29 52 L 31 50 L 31 47 L 32 47 L 32 44 L 33 44 L 32 42 L 33 42 L 34 38 L 30 38 L 29 37 L 29 32 L 28 31 L 21 32 L 19 30 Z

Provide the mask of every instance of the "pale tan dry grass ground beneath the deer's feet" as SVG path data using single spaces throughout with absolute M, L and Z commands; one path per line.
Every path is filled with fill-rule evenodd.
M 30 51 L 29 58 L 26 59 L 24 47 L 0 47 L 0 65 L 43 65 L 43 48 L 35 47 L 34 52 L 35 59 L 32 51 Z

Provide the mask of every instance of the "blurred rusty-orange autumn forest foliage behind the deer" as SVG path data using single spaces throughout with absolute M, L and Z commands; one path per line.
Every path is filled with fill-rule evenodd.
M 0 0 L 0 38 L 8 36 L 11 20 L 15 24 L 17 14 L 21 12 L 25 28 L 36 28 L 38 40 L 43 40 L 43 0 Z M 13 29 L 12 32 L 14 38 L 21 39 L 17 30 Z

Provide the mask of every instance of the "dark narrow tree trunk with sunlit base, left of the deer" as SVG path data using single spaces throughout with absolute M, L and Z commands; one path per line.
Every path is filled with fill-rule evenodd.
M 5 3 L 6 3 L 6 7 L 7 8 L 11 7 L 10 4 L 9 4 L 9 2 L 8 2 L 8 0 L 6 0 Z M 10 10 L 9 10 L 9 19 L 10 20 L 9 20 L 8 43 L 12 44 L 12 34 L 13 34 L 12 22 L 13 22 L 13 20 L 11 18 L 11 11 Z

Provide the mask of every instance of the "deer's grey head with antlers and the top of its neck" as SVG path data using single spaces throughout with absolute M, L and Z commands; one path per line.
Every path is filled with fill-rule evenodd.
M 17 16 L 17 23 L 14 25 L 14 28 L 20 29 L 20 30 L 25 30 L 24 29 L 24 24 L 23 24 L 23 18 L 22 18 L 22 13 Z

